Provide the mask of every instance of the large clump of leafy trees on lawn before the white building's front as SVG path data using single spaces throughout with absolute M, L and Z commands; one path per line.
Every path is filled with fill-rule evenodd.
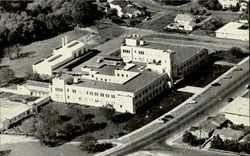
M 106 123 L 95 123 L 92 120 L 94 117 L 77 106 L 70 108 L 67 113 L 60 114 L 53 105 L 47 105 L 37 115 L 34 134 L 43 144 L 56 146 L 78 135 L 106 127 Z

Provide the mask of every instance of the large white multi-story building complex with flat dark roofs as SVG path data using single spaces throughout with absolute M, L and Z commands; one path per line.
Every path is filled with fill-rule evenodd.
M 132 35 L 121 45 L 121 59 L 106 56 L 95 65 L 56 74 L 49 94 L 57 102 L 108 105 L 118 112 L 136 113 L 207 60 L 205 48 L 147 42 Z

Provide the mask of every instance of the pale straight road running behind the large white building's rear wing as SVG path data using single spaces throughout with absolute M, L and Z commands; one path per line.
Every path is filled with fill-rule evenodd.
M 168 33 L 168 32 L 156 32 L 153 30 L 122 27 L 126 29 L 127 34 L 139 34 L 144 36 L 145 39 L 164 42 L 179 45 L 189 46 L 203 46 L 209 49 L 229 49 L 232 46 L 241 47 L 243 50 L 249 50 L 249 42 L 240 40 L 221 39 L 210 36 L 200 36 L 195 34 L 180 34 L 180 33 Z

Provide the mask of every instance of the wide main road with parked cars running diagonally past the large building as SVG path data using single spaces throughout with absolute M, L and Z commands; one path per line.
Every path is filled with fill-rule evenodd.
M 170 134 L 175 133 L 176 130 L 180 130 L 181 126 L 190 125 L 188 123 L 194 120 L 195 117 L 199 116 L 199 114 L 208 110 L 218 109 L 218 106 L 221 103 L 220 99 L 228 99 L 237 88 L 244 87 L 248 83 L 248 64 L 249 60 L 240 66 L 243 68 L 242 71 L 230 72 L 229 74 L 232 76 L 231 79 L 221 78 L 215 80 L 222 86 L 208 86 L 205 92 L 195 98 L 197 101 L 196 104 L 186 104 L 172 112 L 171 114 L 175 116 L 175 118 L 170 120 L 167 124 L 160 125 L 153 123 L 151 126 L 138 131 L 138 133 L 134 133 L 127 138 L 124 137 L 120 140 L 120 143 L 123 143 L 123 146 L 118 147 L 110 153 L 107 152 L 104 155 L 123 155 L 136 151 L 145 145 L 149 145 L 159 139 L 170 136 Z

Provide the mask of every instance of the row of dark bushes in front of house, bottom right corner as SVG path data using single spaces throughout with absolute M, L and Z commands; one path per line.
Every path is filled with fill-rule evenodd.
M 219 136 L 213 137 L 211 141 L 211 148 L 233 152 L 246 152 L 250 154 L 250 142 L 239 142 L 229 139 L 223 141 Z

